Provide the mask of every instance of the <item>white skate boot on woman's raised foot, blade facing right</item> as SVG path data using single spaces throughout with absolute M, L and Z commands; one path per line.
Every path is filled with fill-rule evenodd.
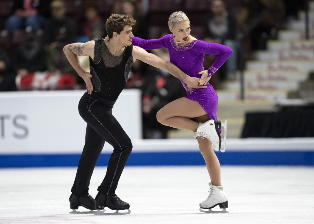
M 224 127 L 225 136 L 221 140 L 218 129 L 221 129 L 221 126 Z M 196 132 L 194 132 L 194 138 L 196 137 L 205 137 L 213 144 L 213 149 L 215 151 L 225 152 L 226 142 L 227 142 L 227 120 L 225 123 L 221 121 L 209 120 L 205 123 L 199 123 Z M 224 147 L 221 149 L 221 142 L 224 142 Z

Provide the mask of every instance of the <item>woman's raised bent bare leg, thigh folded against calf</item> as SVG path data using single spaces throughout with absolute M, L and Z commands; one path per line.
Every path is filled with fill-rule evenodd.
M 200 117 L 205 114 L 198 102 L 182 97 L 161 108 L 157 112 L 157 120 L 166 126 L 195 132 L 198 122 L 192 121 L 189 117 Z

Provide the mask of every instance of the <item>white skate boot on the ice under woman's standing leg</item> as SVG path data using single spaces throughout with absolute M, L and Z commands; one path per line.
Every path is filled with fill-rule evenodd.
M 200 211 L 201 212 L 207 212 L 207 213 L 229 213 L 226 211 L 226 208 L 228 208 L 228 198 L 225 194 L 222 186 L 215 186 L 212 183 L 208 183 L 209 185 L 209 195 L 208 198 L 201 203 L 199 203 Z M 211 210 L 215 206 L 219 205 L 220 208 L 223 208 L 222 211 L 213 211 Z M 208 209 L 202 210 L 202 209 Z

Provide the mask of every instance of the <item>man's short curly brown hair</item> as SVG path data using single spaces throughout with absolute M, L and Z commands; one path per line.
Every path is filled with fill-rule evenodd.
M 113 32 L 120 34 L 125 26 L 133 26 L 136 21 L 132 15 L 111 14 L 106 21 L 106 30 L 109 38 L 112 38 Z

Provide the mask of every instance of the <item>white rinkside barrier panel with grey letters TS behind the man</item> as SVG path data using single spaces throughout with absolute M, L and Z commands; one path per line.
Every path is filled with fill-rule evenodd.
M 86 129 L 78 113 L 83 94 L 84 90 L 0 93 L 0 154 L 80 153 Z M 140 90 L 123 90 L 112 112 L 131 140 L 142 138 Z

